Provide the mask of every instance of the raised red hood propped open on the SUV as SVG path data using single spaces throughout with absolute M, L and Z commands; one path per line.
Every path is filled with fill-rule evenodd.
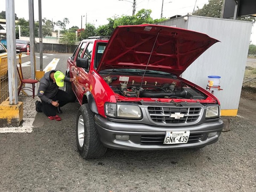
M 108 41 L 97 71 L 135 68 L 180 76 L 216 42 L 218 40 L 206 34 L 170 26 L 118 26 Z

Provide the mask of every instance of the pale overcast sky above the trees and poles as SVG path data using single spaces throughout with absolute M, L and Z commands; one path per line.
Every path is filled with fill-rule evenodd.
M 19 18 L 29 20 L 29 0 L 15 0 L 15 13 Z M 85 22 L 93 23 L 96 27 L 108 23 L 107 18 L 115 15 L 132 15 L 133 0 L 41 0 L 42 18 L 58 21 L 67 17 L 72 26 L 84 28 Z M 158 19 L 161 16 L 163 3 L 163 17 L 187 15 L 197 6 L 202 8 L 208 0 L 137 0 L 136 12 L 140 9 L 151 9 L 151 17 Z M 5 11 L 6 0 L 0 0 L 0 12 Z M 38 20 L 38 0 L 34 0 L 34 17 Z M 135 12 L 135 13 L 136 13 Z M 256 44 L 256 26 L 254 24 L 251 40 Z

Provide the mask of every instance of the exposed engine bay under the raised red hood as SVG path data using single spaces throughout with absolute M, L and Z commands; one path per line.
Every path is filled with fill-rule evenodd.
M 139 81 L 141 77 L 132 76 L 105 76 L 103 79 L 111 87 L 114 93 L 124 97 L 139 98 L 172 98 L 172 99 L 206 99 L 207 96 L 180 81 L 178 79 L 167 78 L 145 78 Z M 123 81 L 127 80 L 127 81 Z M 168 82 L 166 82 L 168 81 Z

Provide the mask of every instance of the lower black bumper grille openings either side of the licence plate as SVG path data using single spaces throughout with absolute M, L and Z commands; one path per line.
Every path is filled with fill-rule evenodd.
M 197 143 L 198 140 L 201 140 L 202 134 L 190 134 L 187 144 Z M 142 145 L 164 145 L 165 135 L 142 135 L 140 143 Z M 175 145 L 175 144 L 172 144 Z

